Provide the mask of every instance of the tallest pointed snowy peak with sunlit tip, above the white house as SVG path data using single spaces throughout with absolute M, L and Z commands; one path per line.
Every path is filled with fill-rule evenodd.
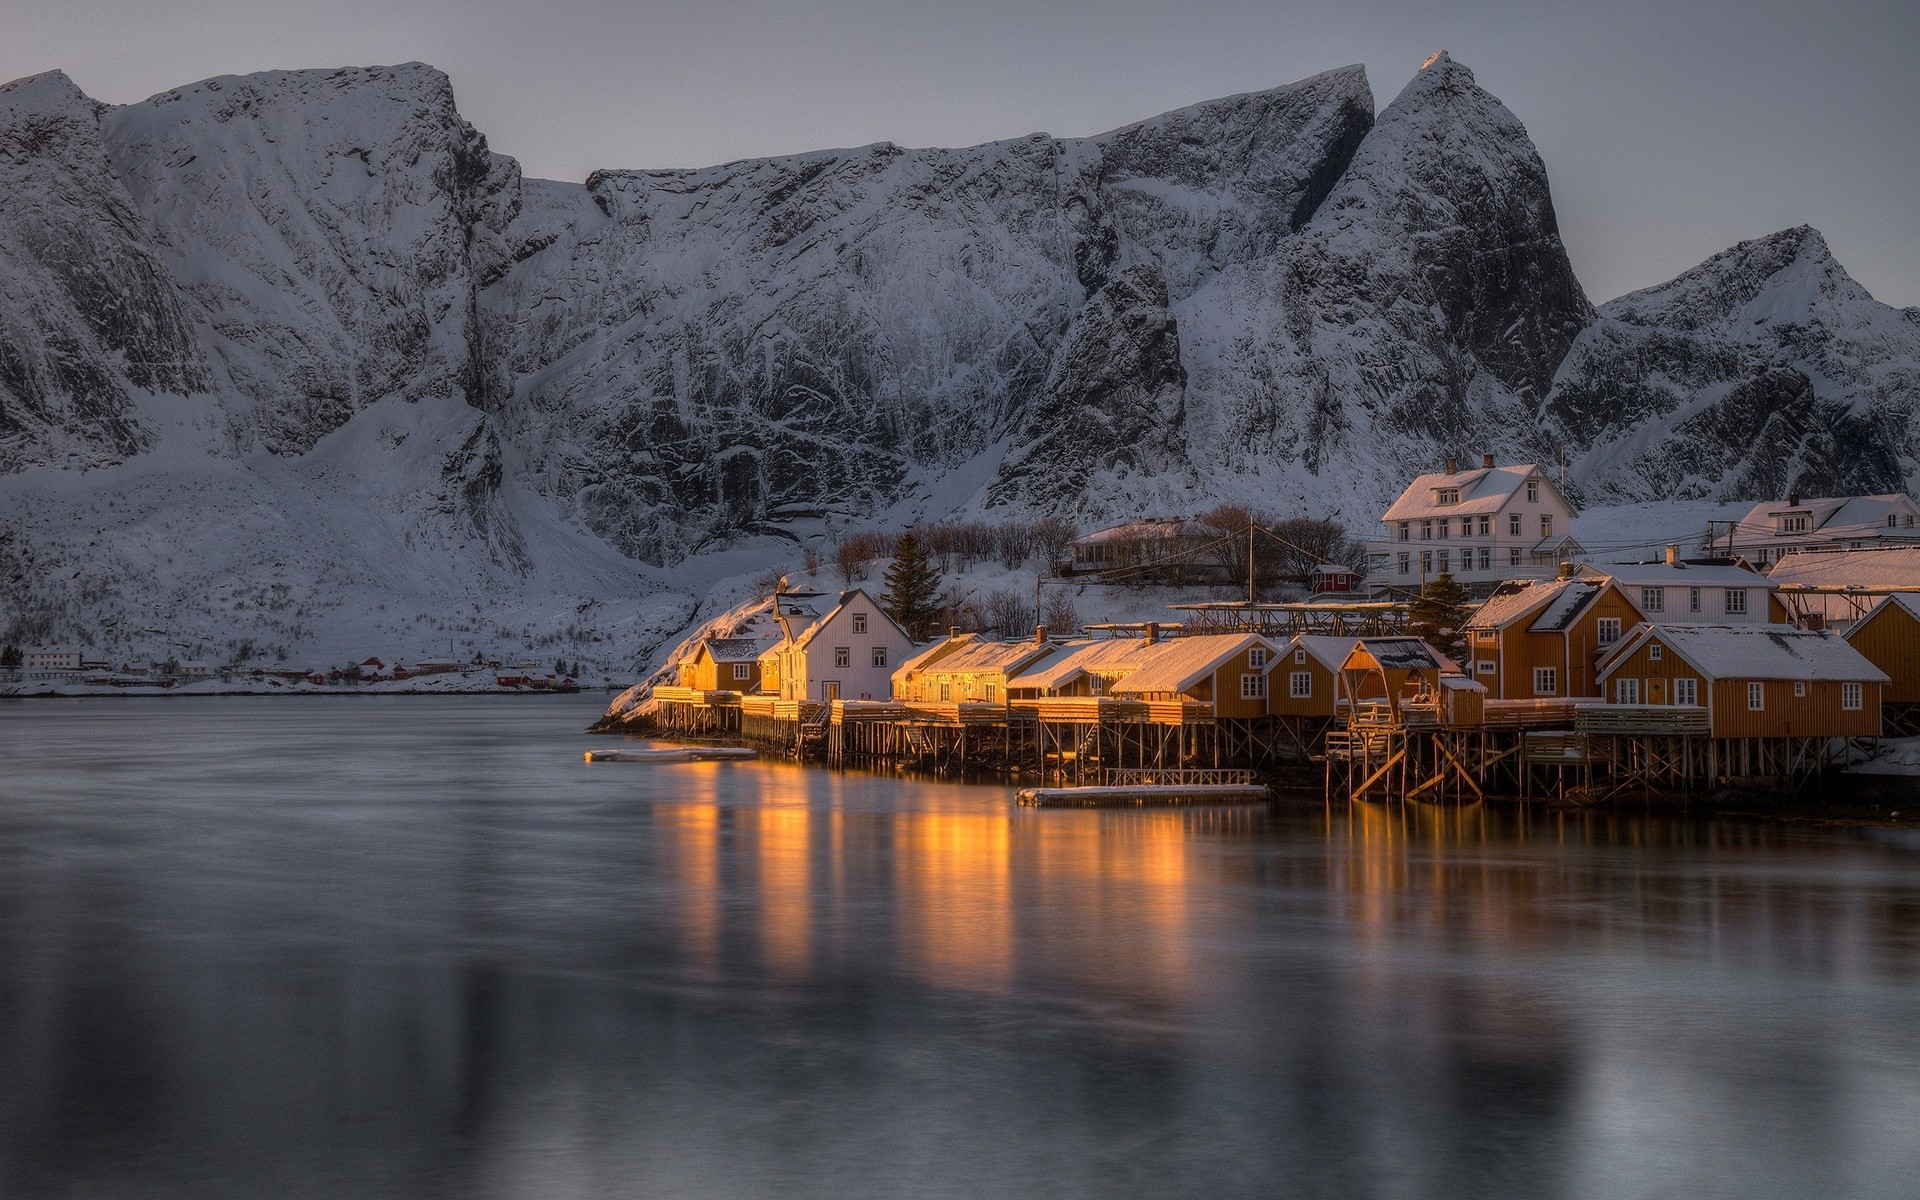
M 1225 486 L 1367 524 L 1448 451 L 1530 457 L 1592 307 L 1526 131 L 1440 54 L 1296 238 L 1175 315 L 1187 436 Z

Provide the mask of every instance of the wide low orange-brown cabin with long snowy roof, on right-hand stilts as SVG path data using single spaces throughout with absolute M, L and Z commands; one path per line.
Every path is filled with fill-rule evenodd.
M 1820 630 L 1645 624 L 1599 685 L 1615 705 L 1705 708 L 1713 737 L 1878 737 L 1887 676 Z

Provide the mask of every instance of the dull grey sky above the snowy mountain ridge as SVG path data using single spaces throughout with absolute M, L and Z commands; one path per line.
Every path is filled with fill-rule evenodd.
M 0 79 L 420 60 L 551 179 L 1087 134 L 1354 61 L 1384 106 L 1432 50 L 1526 123 L 1594 300 L 1807 223 L 1920 303 L 1914 0 L 0 0 Z

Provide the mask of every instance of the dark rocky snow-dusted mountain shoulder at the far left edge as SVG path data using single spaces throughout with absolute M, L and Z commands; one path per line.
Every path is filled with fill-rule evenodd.
M 60 71 L 0 86 L 0 472 L 148 445 L 142 392 L 200 392 L 175 282 Z

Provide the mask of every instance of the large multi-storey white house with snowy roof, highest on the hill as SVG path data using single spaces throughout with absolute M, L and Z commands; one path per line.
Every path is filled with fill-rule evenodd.
M 1452 574 L 1473 591 L 1505 580 L 1551 578 L 1580 555 L 1574 507 L 1534 463 L 1423 474 L 1380 516 L 1386 538 L 1367 547 L 1373 588 L 1419 589 Z

